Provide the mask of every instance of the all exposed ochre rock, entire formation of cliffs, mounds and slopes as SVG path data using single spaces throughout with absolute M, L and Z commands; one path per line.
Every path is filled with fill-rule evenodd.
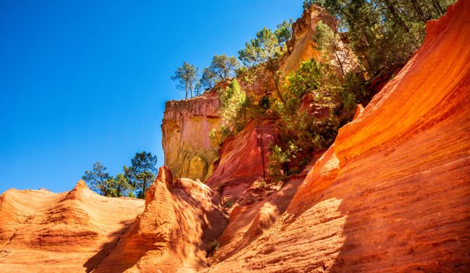
M 311 14 L 284 71 L 316 56 Z M 275 116 L 218 147 L 215 92 L 168 102 L 168 167 L 145 201 L 83 181 L 0 195 L 0 271 L 470 272 L 469 18 L 459 0 L 429 22 L 408 64 L 283 186 L 264 183 Z

